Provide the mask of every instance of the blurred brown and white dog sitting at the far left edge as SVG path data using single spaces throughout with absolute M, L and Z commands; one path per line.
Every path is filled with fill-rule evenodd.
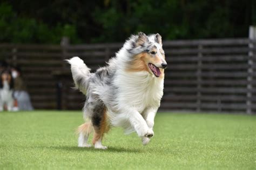
M 1 72 L 0 81 L 0 111 L 14 111 L 14 79 L 11 76 L 10 70 Z

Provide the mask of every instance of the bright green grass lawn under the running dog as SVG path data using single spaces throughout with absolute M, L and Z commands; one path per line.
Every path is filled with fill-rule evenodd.
M 158 113 L 154 137 L 113 128 L 107 150 L 78 148 L 77 111 L 0 113 L 0 169 L 255 169 L 256 117 Z

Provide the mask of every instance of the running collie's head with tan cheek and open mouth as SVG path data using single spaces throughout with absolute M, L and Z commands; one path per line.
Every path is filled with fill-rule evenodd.
M 132 54 L 132 60 L 129 70 L 147 71 L 156 77 L 163 77 L 167 63 L 159 33 L 146 36 L 139 32 L 130 38 L 130 43 L 128 51 Z

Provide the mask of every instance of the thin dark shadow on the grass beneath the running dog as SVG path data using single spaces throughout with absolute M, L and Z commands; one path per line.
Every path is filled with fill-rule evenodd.
M 51 148 L 51 149 L 60 149 L 66 151 L 93 151 L 93 152 L 129 152 L 129 153 L 138 153 L 142 152 L 140 149 L 134 148 L 122 148 L 122 147 L 108 147 L 107 149 L 95 149 L 94 147 L 77 147 L 77 146 L 38 146 L 37 148 Z

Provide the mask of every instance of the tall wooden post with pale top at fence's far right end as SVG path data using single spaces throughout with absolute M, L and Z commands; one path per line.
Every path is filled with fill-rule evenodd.
M 248 69 L 247 69 L 247 100 L 246 100 L 246 113 L 252 114 L 252 80 L 253 80 L 253 42 L 256 39 L 256 27 L 250 26 L 249 28 L 249 52 L 248 52 Z

